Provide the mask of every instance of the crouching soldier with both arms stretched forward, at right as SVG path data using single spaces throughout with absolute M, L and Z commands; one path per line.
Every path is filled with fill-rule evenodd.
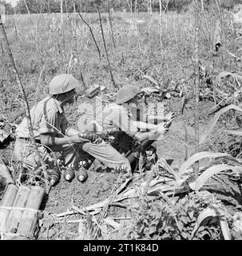
M 121 154 L 132 150 L 133 138 L 138 142 L 145 140 L 157 140 L 169 128 L 164 124 L 155 125 L 149 122 L 137 121 L 137 116 L 133 116 L 130 106 L 137 107 L 139 90 L 137 86 L 124 86 L 117 92 L 117 100 L 115 103 L 106 106 L 101 114 L 97 116 L 96 122 L 102 126 L 102 129 L 113 134 L 114 141 L 112 146 Z M 173 113 L 160 118 L 165 122 L 172 122 Z M 148 130 L 148 131 L 141 131 Z

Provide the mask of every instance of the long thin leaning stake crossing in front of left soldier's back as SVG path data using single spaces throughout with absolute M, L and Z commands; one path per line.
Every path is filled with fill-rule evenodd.
M 5 31 L 3 22 L 2 22 L 1 14 L 0 14 L 0 30 L 1 30 L 1 34 L 3 36 L 3 40 L 6 42 L 6 50 L 7 50 L 8 54 L 9 54 L 9 56 L 10 56 L 11 66 L 13 67 L 13 71 L 14 71 L 14 75 L 15 75 L 16 81 L 18 83 L 18 87 L 20 88 L 20 90 L 22 90 L 22 94 L 23 94 L 23 98 L 24 98 L 24 105 L 25 105 L 25 110 L 26 110 L 26 119 L 27 119 L 27 124 L 28 124 L 28 128 L 29 128 L 30 138 L 34 138 L 34 130 L 33 130 L 32 122 L 31 122 L 31 117 L 30 117 L 29 102 L 28 102 L 28 99 L 27 99 L 27 96 L 26 96 L 26 91 L 24 89 L 24 86 L 22 85 L 21 78 L 20 78 L 20 76 L 18 74 L 18 70 L 17 70 L 16 64 L 15 64 L 15 61 L 14 61 L 14 57 L 13 57 L 12 51 L 10 49 L 10 44 L 9 44 L 7 36 L 6 36 L 6 31 Z M 38 156 L 38 159 L 39 159 L 39 161 L 42 164 L 42 167 L 43 167 L 43 170 L 44 170 L 44 174 L 46 176 L 47 174 L 46 174 L 45 162 L 42 159 L 42 156 L 41 156 L 41 154 L 38 151 L 38 147 L 37 147 L 34 139 L 31 139 L 31 143 L 34 146 L 35 154 Z

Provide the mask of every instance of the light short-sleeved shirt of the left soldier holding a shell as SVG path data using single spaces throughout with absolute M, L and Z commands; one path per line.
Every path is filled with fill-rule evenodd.
M 30 110 L 31 121 L 34 129 L 34 138 L 40 134 L 50 133 L 57 137 L 63 137 L 69 122 L 65 118 L 64 110 L 58 101 L 51 96 L 38 102 Z M 24 118 L 16 129 L 18 138 L 30 138 L 27 119 Z

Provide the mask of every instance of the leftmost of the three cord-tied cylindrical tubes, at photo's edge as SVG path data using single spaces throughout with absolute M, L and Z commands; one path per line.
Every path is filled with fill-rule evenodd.
M 6 190 L 4 192 L 1 206 L 10 207 L 14 204 L 14 199 L 16 198 L 16 194 L 18 192 L 18 187 L 14 184 L 9 184 L 6 186 Z M 4 232 L 6 230 L 6 221 L 10 215 L 10 210 L 0 209 L 0 231 Z

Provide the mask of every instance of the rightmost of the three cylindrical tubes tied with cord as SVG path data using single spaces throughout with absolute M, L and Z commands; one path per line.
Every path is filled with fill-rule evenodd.
M 44 194 L 45 190 L 42 187 L 32 186 L 26 208 L 33 210 L 24 210 L 18 226 L 18 234 L 30 239 L 34 238 L 34 231 L 38 220 L 38 212 L 34 210 L 39 210 Z

